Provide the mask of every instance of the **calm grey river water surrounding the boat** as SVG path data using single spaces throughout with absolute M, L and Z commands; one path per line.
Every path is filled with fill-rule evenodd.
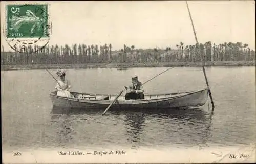
M 68 69 L 72 90 L 118 93 L 138 75 L 141 82 L 167 68 Z M 56 75 L 56 70 L 51 70 Z M 255 143 L 255 67 L 209 67 L 215 102 L 197 109 L 146 113 L 52 110 L 56 82 L 44 70 L 2 71 L 2 148 L 112 148 L 244 146 Z M 201 67 L 177 67 L 144 85 L 147 93 L 205 87 Z M 209 100 L 209 106 L 210 100 Z

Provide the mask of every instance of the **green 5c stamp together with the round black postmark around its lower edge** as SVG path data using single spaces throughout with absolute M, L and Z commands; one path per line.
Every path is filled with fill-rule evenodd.
M 4 36 L 20 53 L 40 51 L 50 41 L 49 4 L 7 4 Z M 32 48 L 33 46 L 33 48 Z

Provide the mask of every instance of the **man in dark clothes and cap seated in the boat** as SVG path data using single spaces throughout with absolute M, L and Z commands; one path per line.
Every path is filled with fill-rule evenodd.
M 129 86 L 129 89 L 125 87 L 126 94 L 125 100 L 129 99 L 144 99 L 144 90 L 142 83 L 138 81 L 138 77 L 135 76 L 132 78 L 132 85 Z

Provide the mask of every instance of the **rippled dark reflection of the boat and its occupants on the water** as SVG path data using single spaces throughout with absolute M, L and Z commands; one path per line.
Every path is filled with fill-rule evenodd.
M 70 142 L 72 139 L 69 116 L 81 116 L 86 113 L 84 116 L 91 115 L 93 122 L 96 122 L 95 120 L 101 118 L 99 115 L 102 114 L 101 111 L 58 107 L 54 107 L 52 113 L 58 118 L 58 122 L 62 122 L 62 124 L 58 123 L 58 129 L 62 129 L 59 130 L 59 135 L 62 135 L 61 142 Z M 183 144 L 200 148 L 207 147 L 211 139 L 211 121 L 214 115 L 214 113 L 201 108 L 143 109 L 139 111 L 132 109 L 129 111 L 110 110 L 108 114 L 109 118 L 105 121 L 113 118 L 123 120 L 125 131 L 121 132 L 124 136 L 120 137 L 125 137 L 133 149 L 145 145 L 152 146 L 153 144 L 157 146 Z M 116 117 L 117 115 L 118 117 Z M 63 141 L 63 138 L 66 140 Z

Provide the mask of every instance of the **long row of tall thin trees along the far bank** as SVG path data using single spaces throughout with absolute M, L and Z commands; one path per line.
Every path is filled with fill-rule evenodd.
M 255 60 L 255 51 L 246 43 L 225 42 L 216 45 L 210 41 L 199 45 L 186 45 L 180 42 L 175 49 L 135 49 L 126 46 L 119 51 L 112 51 L 111 44 L 69 46 L 47 45 L 28 46 L 16 52 L 5 52 L 2 46 L 1 64 L 82 64 L 82 63 L 124 63 L 124 62 L 175 62 L 201 61 L 251 61 Z

